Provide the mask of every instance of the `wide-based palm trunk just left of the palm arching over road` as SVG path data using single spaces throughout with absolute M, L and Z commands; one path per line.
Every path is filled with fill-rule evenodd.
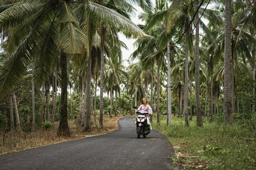
M 91 80 L 92 80 L 92 56 L 88 55 L 87 81 L 86 81 L 86 123 L 83 131 L 91 131 Z

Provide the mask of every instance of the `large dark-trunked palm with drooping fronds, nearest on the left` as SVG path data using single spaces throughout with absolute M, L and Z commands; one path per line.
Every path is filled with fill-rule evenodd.
M 6 51 L 12 53 L 12 56 L 1 70 L 1 92 L 6 93 L 13 88 L 31 62 L 32 56 L 35 57 L 33 77 L 37 83 L 41 82 L 40 84 L 52 70 L 56 57 L 61 56 L 62 97 L 58 135 L 70 135 L 67 124 L 67 71 L 64 60 L 67 53 L 81 53 L 85 42 L 85 35 L 76 22 L 71 5 L 72 1 L 55 3 L 50 0 L 21 0 L 14 5 L 7 5 L 0 13 L 1 26 L 16 27 L 13 34 L 8 34 Z M 13 38 L 20 41 L 13 43 Z

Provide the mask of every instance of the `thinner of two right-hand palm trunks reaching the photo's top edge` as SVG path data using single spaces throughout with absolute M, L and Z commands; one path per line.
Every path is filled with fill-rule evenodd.
M 195 9 L 198 8 L 198 0 L 195 0 Z M 198 13 L 195 15 L 195 22 L 198 23 Z M 200 75 L 199 75 L 199 26 L 195 27 L 195 104 L 196 104 L 196 126 L 203 126 L 200 106 Z

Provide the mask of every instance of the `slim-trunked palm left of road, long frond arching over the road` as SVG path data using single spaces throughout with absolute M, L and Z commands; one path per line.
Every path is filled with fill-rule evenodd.
M 136 2 L 136 1 L 135 1 Z M 108 29 L 112 29 L 112 31 L 119 30 L 114 28 L 113 25 L 119 24 L 124 33 L 131 33 L 135 37 L 136 36 L 144 36 L 145 34 L 139 27 L 137 27 L 134 23 L 132 23 L 127 17 L 128 15 L 121 9 L 132 9 L 130 4 L 126 1 L 115 1 L 111 0 L 106 2 L 89 2 L 88 7 L 91 11 L 92 16 L 96 16 L 99 18 L 99 30 L 101 35 L 101 82 L 100 82 L 100 112 L 99 112 L 99 127 L 103 128 L 103 83 L 104 83 L 104 53 L 105 53 L 105 36 L 108 32 Z M 117 8 L 123 7 L 123 8 Z M 118 9 L 118 10 L 117 10 Z M 105 11 L 103 15 L 101 15 L 100 11 Z M 121 14 L 120 14 L 121 13 Z M 114 23 L 115 24 L 112 24 Z M 112 26 L 110 26 L 112 25 Z M 120 30 L 121 31 L 121 30 Z M 108 39 L 112 40 L 112 39 Z

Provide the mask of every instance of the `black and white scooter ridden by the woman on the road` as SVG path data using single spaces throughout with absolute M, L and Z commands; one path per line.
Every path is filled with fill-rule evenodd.
M 137 109 L 136 107 L 133 108 Z M 150 133 L 150 128 L 147 125 L 148 112 L 140 110 L 136 113 L 138 114 L 136 117 L 137 137 L 140 138 L 140 135 L 143 135 L 145 138 Z

